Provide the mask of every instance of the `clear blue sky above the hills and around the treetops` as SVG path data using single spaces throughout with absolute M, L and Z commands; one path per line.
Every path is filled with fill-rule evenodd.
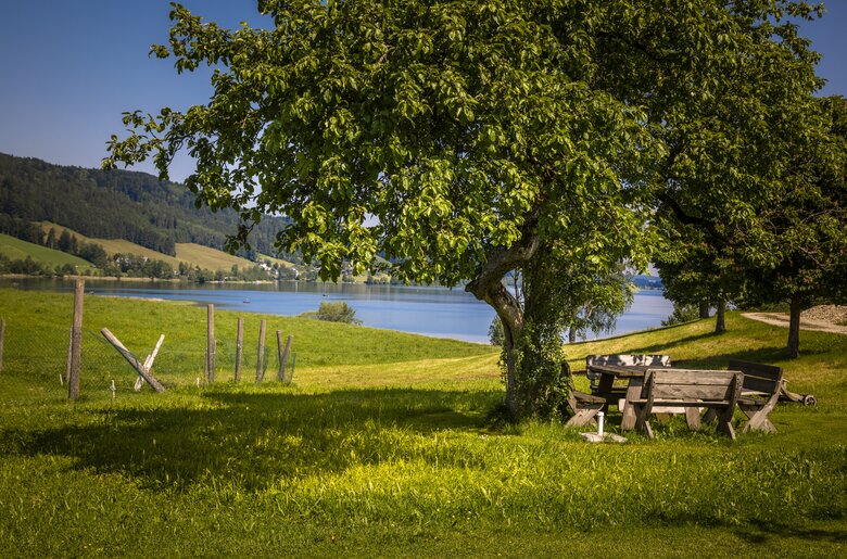
M 225 26 L 260 21 L 255 0 L 181 3 Z M 847 97 L 847 0 L 826 5 L 802 29 L 823 54 L 821 94 Z M 206 76 L 178 76 L 148 58 L 151 43 L 167 42 L 169 9 L 167 0 L 0 0 L 0 152 L 98 167 L 110 135 L 121 136 L 122 112 L 204 102 Z M 172 178 L 189 171 L 182 157 Z

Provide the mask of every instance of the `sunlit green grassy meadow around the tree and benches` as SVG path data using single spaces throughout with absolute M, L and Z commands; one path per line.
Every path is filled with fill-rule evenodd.
M 256 385 L 245 315 L 218 312 L 218 382 L 203 374 L 205 309 L 87 297 L 83 397 L 59 383 L 68 295 L 0 290 L 0 556 L 583 557 L 636 554 L 822 557 L 847 552 L 847 338 L 786 331 L 731 314 L 568 346 L 668 353 L 674 364 L 775 363 L 816 408 L 780 405 L 775 435 L 731 443 L 655 424 L 656 441 L 590 445 L 558 424 L 501 425 L 492 348 L 264 317 L 294 335 L 294 382 Z M 108 327 L 168 388 L 131 390 L 100 341 Z M 109 390 L 115 380 L 116 395 Z M 199 385 L 198 385 L 199 384 Z M 610 429 L 616 430 L 614 414 Z

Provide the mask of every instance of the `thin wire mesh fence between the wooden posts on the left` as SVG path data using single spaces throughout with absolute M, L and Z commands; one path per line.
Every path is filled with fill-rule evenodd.
M 61 323 L 39 323 L 37 327 L 22 330 L 12 321 L 7 321 L 2 336 L 2 360 L 0 374 L 33 378 L 40 382 L 55 382 L 64 385 L 71 366 L 71 326 Z M 203 332 L 192 332 L 192 339 L 203 340 L 200 343 L 187 343 L 185 340 L 168 344 L 165 339 L 162 350 L 155 356 L 151 373 L 166 386 L 208 384 L 214 382 L 233 382 L 236 380 L 236 364 L 238 343 L 232 339 L 216 338 L 214 345 L 215 369 L 213 379 L 206 370 L 206 347 Z M 275 332 L 268 332 L 262 360 L 258 359 L 257 336 L 248 336 L 250 341 L 241 344 L 240 382 L 257 382 L 282 380 L 290 383 L 296 365 L 296 354 L 289 353 L 286 367 L 280 372 L 280 353 Z M 282 341 L 285 344 L 285 340 Z M 140 347 L 132 344 L 128 347 L 140 363 L 144 363 L 153 352 L 156 340 L 151 340 L 149 346 Z M 285 347 L 285 345 L 283 345 Z M 112 346 L 101 332 L 85 329 L 81 338 L 81 358 L 79 378 L 85 393 L 86 386 L 98 386 L 106 390 L 114 386 L 116 391 L 135 390 L 138 372 Z

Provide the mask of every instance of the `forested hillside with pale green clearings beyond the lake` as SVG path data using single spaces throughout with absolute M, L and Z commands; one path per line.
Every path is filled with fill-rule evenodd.
M 182 185 L 137 171 L 52 165 L 0 154 L 0 224 L 51 221 L 88 237 L 125 239 L 174 256 L 175 243 L 223 249 L 238 215 L 194 207 Z M 250 243 L 276 254 L 273 243 L 285 219 L 266 216 Z M 11 232 L 11 231 L 9 231 Z

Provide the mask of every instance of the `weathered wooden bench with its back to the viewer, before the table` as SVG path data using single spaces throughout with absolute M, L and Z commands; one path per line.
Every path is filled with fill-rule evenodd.
M 649 369 L 644 378 L 641 397 L 632 401 L 635 429 L 654 439 L 649 416 L 654 408 L 682 408 L 688 429 L 700 428 L 700 408 L 713 409 L 717 429 L 733 441 L 732 416 L 742 389 L 741 371 L 694 369 Z

